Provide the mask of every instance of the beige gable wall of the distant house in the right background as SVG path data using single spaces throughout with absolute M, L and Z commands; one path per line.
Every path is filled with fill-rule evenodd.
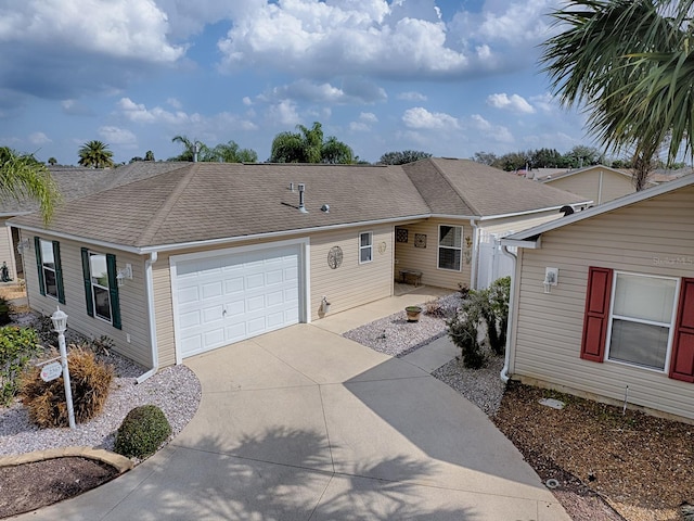
M 547 181 L 554 188 L 566 190 L 602 204 L 634 192 L 631 179 L 616 171 L 594 168 Z

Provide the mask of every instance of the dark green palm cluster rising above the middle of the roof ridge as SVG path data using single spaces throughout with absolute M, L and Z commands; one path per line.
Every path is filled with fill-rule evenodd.
M 355 154 L 350 147 L 334 136 L 323 140 L 323 127 L 313 122 L 311 128 L 297 125 L 298 132 L 280 132 L 272 140 L 270 163 L 350 164 Z

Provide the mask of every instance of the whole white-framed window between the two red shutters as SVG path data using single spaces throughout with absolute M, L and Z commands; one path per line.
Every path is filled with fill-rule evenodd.
M 666 372 L 679 279 L 615 271 L 605 358 Z

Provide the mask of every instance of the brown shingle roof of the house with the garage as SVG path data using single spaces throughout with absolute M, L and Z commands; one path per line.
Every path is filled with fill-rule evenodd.
M 49 230 L 146 247 L 432 214 L 483 217 L 581 202 L 465 160 L 404 166 L 159 165 L 138 165 L 123 170 L 123 178 L 114 177 L 120 168 L 113 170 L 100 181 L 107 188 L 60 206 Z M 306 187 L 306 214 L 298 211 L 298 183 Z M 330 212 L 321 211 L 323 205 Z M 36 213 L 12 224 L 43 228 Z

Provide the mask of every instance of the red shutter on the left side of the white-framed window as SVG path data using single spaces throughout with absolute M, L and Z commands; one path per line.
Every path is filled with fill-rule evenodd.
M 603 361 L 605 342 L 607 341 L 607 325 L 609 323 L 612 269 L 590 267 L 586 293 L 581 358 L 591 361 Z

